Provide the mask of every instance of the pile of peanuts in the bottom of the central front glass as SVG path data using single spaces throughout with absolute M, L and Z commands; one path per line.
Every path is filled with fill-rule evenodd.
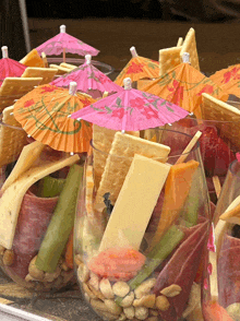
M 179 285 L 171 284 L 156 296 L 152 293 L 156 284 L 155 277 L 145 280 L 131 290 L 127 282 L 100 278 L 83 262 L 79 262 L 77 278 L 86 300 L 107 320 L 157 321 L 159 311 L 166 311 L 170 307 L 168 298 L 179 295 L 182 290 Z M 115 301 L 116 297 L 122 298 L 120 305 Z

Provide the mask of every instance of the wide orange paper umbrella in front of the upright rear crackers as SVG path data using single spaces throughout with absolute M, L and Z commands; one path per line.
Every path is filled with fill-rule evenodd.
M 184 55 L 184 61 L 171 69 L 160 78 L 143 86 L 144 92 L 157 95 L 173 104 L 179 105 L 197 118 L 202 117 L 202 94 L 226 102 L 228 94 L 189 63 L 189 55 Z

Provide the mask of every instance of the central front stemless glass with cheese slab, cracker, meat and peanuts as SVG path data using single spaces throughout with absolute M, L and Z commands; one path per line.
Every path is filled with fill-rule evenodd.
M 74 263 L 83 297 L 103 320 L 202 317 L 211 216 L 200 146 L 183 153 L 192 136 L 156 133 L 153 142 L 117 132 L 109 153 L 93 142 L 85 160 Z

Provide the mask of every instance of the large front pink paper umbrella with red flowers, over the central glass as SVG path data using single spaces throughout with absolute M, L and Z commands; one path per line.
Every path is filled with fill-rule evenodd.
M 172 123 L 189 115 L 181 107 L 158 96 L 132 88 L 130 78 L 124 90 L 100 99 L 70 117 L 87 120 L 112 130 L 137 131 Z

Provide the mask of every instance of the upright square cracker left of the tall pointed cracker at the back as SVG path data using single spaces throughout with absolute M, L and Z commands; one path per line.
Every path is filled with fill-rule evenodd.
M 178 46 L 159 50 L 159 76 L 181 63 L 181 49 Z

